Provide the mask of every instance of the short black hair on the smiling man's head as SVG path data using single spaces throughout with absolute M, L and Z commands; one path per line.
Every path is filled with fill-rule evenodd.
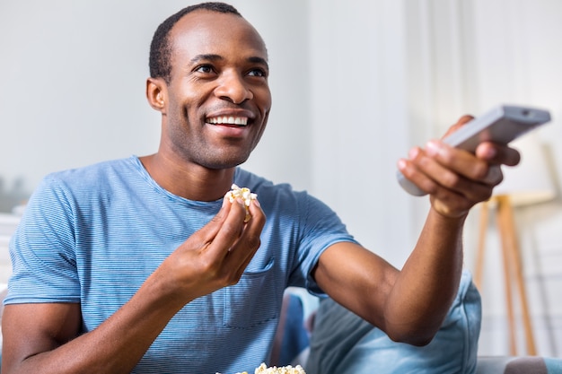
M 170 30 L 178 21 L 180 21 L 181 17 L 199 9 L 218 13 L 232 13 L 241 17 L 241 13 L 239 13 L 233 5 L 224 3 L 201 3 L 189 5 L 188 7 L 181 9 L 178 13 L 172 14 L 164 22 L 162 22 L 154 32 L 153 40 L 150 44 L 150 57 L 148 59 L 151 77 L 163 78 L 166 83 L 170 83 L 172 52 L 171 40 L 169 38 Z

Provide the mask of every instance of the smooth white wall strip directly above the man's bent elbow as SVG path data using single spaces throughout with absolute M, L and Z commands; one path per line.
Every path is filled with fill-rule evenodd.
M 311 2 L 313 191 L 364 246 L 401 265 L 417 236 L 396 183 L 408 128 L 404 5 Z

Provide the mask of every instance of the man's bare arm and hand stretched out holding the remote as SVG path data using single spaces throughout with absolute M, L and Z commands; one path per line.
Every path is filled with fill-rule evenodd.
M 462 117 L 452 129 L 470 117 Z M 400 171 L 430 195 L 431 209 L 417 245 L 399 271 L 353 243 L 337 243 L 320 257 L 316 282 L 330 297 L 381 328 L 391 339 L 431 341 L 458 290 L 462 229 L 474 204 L 487 200 L 519 153 L 500 144 L 480 144 L 475 153 L 432 141 L 415 148 Z

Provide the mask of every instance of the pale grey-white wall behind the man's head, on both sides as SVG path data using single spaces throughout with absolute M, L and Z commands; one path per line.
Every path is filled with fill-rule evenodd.
M 0 0 L 0 211 L 48 172 L 156 151 L 148 48 L 158 24 L 193 3 Z M 233 4 L 262 33 L 273 71 L 272 116 L 248 168 L 310 187 L 307 8 Z

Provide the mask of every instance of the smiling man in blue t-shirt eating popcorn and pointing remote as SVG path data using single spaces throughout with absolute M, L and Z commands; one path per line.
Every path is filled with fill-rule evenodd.
M 158 152 L 50 175 L 31 197 L 11 244 L 4 374 L 253 370 L 291 285 L 329 294 L 394 340 L 432 339 L 459 284 L 466 215 L 518 152 L 435 141 L 399 161 L 432 203 L 399 271 L 312 196 L 237 168 L 271 96 L 265 44 L 233 7 L 172 15 L 150 67 Z M 233 183 L 258 194 L 248 222 L 243 202 L 223 198 Z

